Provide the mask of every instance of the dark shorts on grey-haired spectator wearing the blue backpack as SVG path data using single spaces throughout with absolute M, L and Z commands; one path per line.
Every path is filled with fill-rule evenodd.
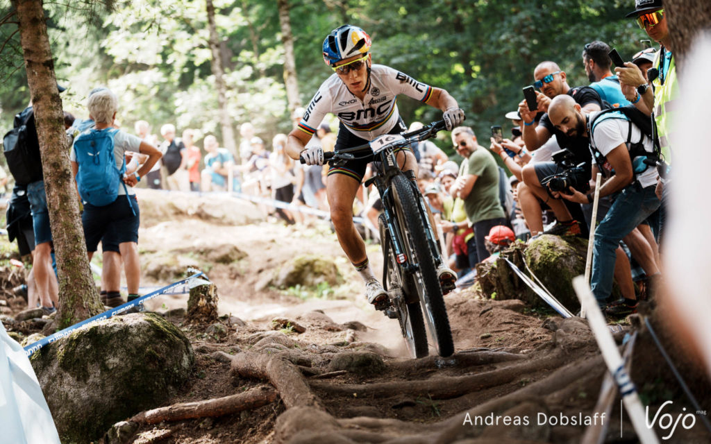
M 104 251 L 117 251 L 113 246 L 124 242 L 138 243 L 138 227 L 140 222 L 140 211 L 136 195 L 130 196 L 132 200 L 134 215 L 129 205 L 126 195 L 119 195 L 114 202 L 103 207 L 95 207 L 89 203 L 84 205 L 82 214 L 82 224 L 84 225 L 84 237 L 87 242 L 87 251 L 96 251 L 99 241 L 108 237 L 106 244 L 103 244 Z

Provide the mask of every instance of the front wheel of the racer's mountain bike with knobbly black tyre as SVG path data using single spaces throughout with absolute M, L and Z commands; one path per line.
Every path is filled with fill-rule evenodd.
M 397 217 L 403 224 L 402 238 L 405 241 L 405 253 L 412 264 L 417 264 L 417 271 L 411 274 L 410 278 L 417 288 L 424 320 L 427 321 L 439 356 L 449 356 L 454 353 L 454 343 L 451 339 L 447 308 L 444 306 L 434 256 L 429 248 L 423 216 L 419 210 L 418 200 L 422 197 L 415 195 L 415 190 L 405 175 L 400 174 L 392 178 L 392 187 L 395 190 Z

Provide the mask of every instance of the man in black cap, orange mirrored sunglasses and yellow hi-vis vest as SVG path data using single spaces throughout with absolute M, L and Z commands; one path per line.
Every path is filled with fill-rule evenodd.
M 619 75 L 622 92 L 630 99 L 641 112 L 650 116 L 654 112 L 656 121 L 656 135 L 664 161 L 660 167 L 660 180 L 657 185 L 657 195 L 661 197 L 661 223 L 657 240 L 661 241 L 665 226 L 665 207 L 668 200 L 668 186 L 665 186 L 665 175 L 672 163 L 672 146 L 670 144 L 670 130 L 673 128 L 674 100 L 679 97 L 679 88 L 676 81 L 676 68 L 673 58 L 673 48 L 664 11 L 662 0 L 636 0 L 634 11 L 626 17 L 636 18 L 637 24 L 647 35 L 657 43 L 660 50 L 656 53 L 653 67 L 656 77 L 648 85 L 648 79 L 634 63 L 625 63 L 625 67 L 615 68 Z

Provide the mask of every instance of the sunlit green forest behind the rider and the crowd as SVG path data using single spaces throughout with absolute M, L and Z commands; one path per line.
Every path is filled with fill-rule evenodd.
M 214 5 L 217 51 L 210 49 L 206 4 Z M 199 146 L 205 134 L 227 145 L 227 131 L 220 125 L 216 54 L 233 134 L 251 121 L 269 146 L 274 134 L 292 129 L 290 110 L 308 104 L 331 75 L 321 43 L 343 23 L 370 34 L 373 63 L 448 90 L 486 146 L 489 126 L 510 127 L 504 114 L 517 109 L 521 88 L 533 82 L 540 61 L 557 62 L 570 86 L 588 85 L 582 65 L 585 43 L 603 40 L 631 60 L 647 38 L 624 18 L 634 9 L 632 0 L 109 0 L 106 6 L 63 0 L 43 4 L 58 83 L 68 88 L 61 94 L 64 109 L 87 117 L 87 93 L 106 85 L 119 96 L 117 119 L 127 131 L 133 132 L 141 119 L 149 121 L 154 134 L 172 123 L 178 135 L 186 128 L 198 130 Z M 0 1 L 0 11 L 10 9 L 8 0 Z M 284 28 L 284 13 L 290 28 Z M 30 97 L 16 29 L 0 26 L 2 131 L 11 128 L 14 114 Z M 289 42 L 296 79 L 291 94 L 286 79 L 292 70 L 285 70 Z M 407 98 L 398 107 L 408 124 L 441 118 L 437 110 Z M 454 153 L 449 141 L 438 144 Z

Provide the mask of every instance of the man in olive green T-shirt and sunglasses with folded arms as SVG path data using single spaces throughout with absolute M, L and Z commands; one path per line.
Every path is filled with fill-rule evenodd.
M 474 267 L 489 256 L 484 242 L 489 230 L 506 224 L 498 198 L 498 166 L 491 153 L 476 143 L 474 130 L 469 126 L 452 130 L 451 140 L 464 162 L 449 192 L 452 197 L 464 200 L 466 217 L 474 227 L 474 237 L 466 243 L 469 266 Z

